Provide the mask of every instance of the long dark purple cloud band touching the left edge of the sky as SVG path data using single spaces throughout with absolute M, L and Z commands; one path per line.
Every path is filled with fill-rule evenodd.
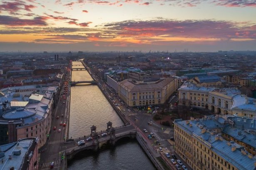
M 0 25 L 8 26 L 47 26 L 45 20 L 45 17 L 34 17 L 34 19 L 20 19 L 18 17 L 0 15 Z

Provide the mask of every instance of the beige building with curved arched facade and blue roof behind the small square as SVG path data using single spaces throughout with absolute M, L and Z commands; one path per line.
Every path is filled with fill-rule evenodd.
M 209 109 L 217 114 L 232 114 L 232 108 L 246 100 L 246 96 L 234 88 L 199 87 L 193 83 L 184 83 L 179 88 L 179 104 Z

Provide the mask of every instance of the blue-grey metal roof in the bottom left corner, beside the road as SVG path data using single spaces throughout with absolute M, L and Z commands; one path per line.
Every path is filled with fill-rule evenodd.
M 35 151 L 36 138 L 25 138 L 20 141 L 0 146 L 0 151 L 4 152 L 4 157 L 0 158 L 0 170 L 9 170 L 14 167 L 15 170 L 22 169 L 23 164 L 27 165 L 25 158 L 29 157 L 29 151 Z M 14 151 L 20 151 L 20 155 L 14 155 Z M 11 159 L 9 159 L 11 155 Z M 27 169 L 27 168 L 25 168 Z

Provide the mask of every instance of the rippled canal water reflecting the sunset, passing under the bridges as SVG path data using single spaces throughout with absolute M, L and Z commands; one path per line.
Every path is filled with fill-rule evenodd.
M 72 81 L 78 80 L 92 80 L 92 77 L 86 70 L 72 71 Z M 123 125 L 97 85 L 72 86 L 70 99 L 70 138 L 90 134 L 92 125 L 97 126 L 97 131 L 106 130 L 108 121 L 113 126 Z M 120 141 L 116 146 L 106 147 L 100 152 L 85 153 L 79 153 L 68 162 L 68 170 L 155 169 L 139 143 L 134 140 Z

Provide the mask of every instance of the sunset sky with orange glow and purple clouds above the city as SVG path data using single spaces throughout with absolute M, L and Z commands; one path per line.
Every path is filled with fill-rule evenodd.
M 1 0 L 0 51 L 256 50 L 256 0 Z

